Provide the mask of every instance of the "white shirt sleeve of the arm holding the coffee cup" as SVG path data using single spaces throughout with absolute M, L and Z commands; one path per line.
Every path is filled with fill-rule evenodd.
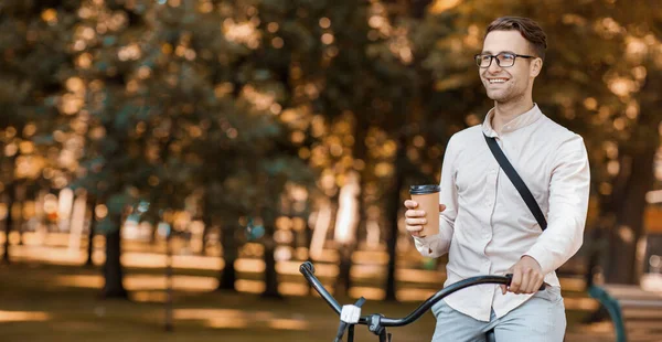
M 455 136 L 448 141 L 446 153 L 444 153 L 444 163 L 441 164 L 439 203 L 446 205 L 446 210 L 439 213 L 439 234 L 426 237 L 414 236 L 416 249 L 425 257 L 437 258 L 445 255 L 448 253 L 452 239 L 455 220 L 458 213 L 458 191 L 455 181 L 455 161 L 458 151 L 453 138 Z

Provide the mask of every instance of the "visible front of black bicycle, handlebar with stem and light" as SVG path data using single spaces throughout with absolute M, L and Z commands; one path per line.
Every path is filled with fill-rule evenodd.
M 356 324 L 367 325 L 367 329 L 378 336 L 380 342 L 391 342 L 392 334 L 386 332 L 387 327 L 403 327 L 415 322 L 439 300 L 463 288 L 481 284 L 498 284 L 510 286 L 513 276 L 511 274 L 508 274 L 505 276 L 477 276 L 465 280 L 460 280 L 437 291 L 435 295 L 426 299 L 418 308 L 416 308 L 407 317 L 394 319 L 385 317 L 381 313 L 372 313 L 369 316 L 359 317 L 356 316 L 356 312 L 360 313 L 360 308 L 365 302 L 365 298 L 361 297 L 354 303 L 354 306 L 345 306 L 348 308 L 343 309 L 343 307 L 341 307 L 340 303 L 338 303 L 335 298 L 333 298 L 333 296 L 329 293 L 329 291 L 320 282 L 320 280 L 314 276 L 314 266 L 312 265 L 312 263 L 306 261 L 301 264 L 301 266 L 299 266 L 299 271 L 303 275 L 306 280 L 314 288 L 314 290 L 327 301 L 331 309 L 333 309 L 333 311 L 335 311 L 335 313 L 338 313 L 341 317 L 340 327 L 338 328 L 338 334 L 335 336 L 334 342 L 342 341 L 342 336 L 345 330 L 348 331 L 348 342 L 353 342 L 354 325 Z M 544 289 L 545 284 L 543 284 L 540 290 Z M 357 310 L 354 308 L 356 308 Z M 489 336 L 489 339 L 492 340 L 493 335 Z

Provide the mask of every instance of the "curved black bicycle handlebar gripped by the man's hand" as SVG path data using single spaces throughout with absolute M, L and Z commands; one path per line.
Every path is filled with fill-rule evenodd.
M 318 293 L 320 293 L 320 296 L 322 296 L 322 298 L 327 301 L 327 303 L 329 303 L 331 309 L 333 309 L 333 311 L 335 311 L 335 313 L 340 314 L 340 312 L 342 311 L 342 307 L 340 306 L 340 303 L 338 303 L 335 298 L 333 298 L 333 296 L 331 296 L 331 293 L 329 293 L 329 291 L 320 282 L 320 280 L 314 276 L 314 266 L 312 265 L 312 263 L 306 261 L 306 263 L 301 264 L 301 266 L 299 266 L 299 271 L 303 275 L 306 280 L 308 280 L 308 282 L 314 288 L 314 290 Z M 461 289 L 470 287 L 470 286 L 481 285 L 481 284 L 502 284 L 502 285 L 508 286 L 508 285 L 510 285 L 511 280 L 512 280 L 512 275 L 510 275 L 510 274 L 505 275 L 505 276 L 478 276 L 478 277 L 472 277 L 472 278 L 468 278 L 465 280 L 460 280 L 456 284 L 452 284 L 452 285 L 437 291 L 437 293 L 435 293 L 430 298 L 426 299 L 418 308 L 416 308 L 407 317 L 399 318 L 399 319 L 382 317 L 380 319 L 380 323 L 382 327 L 407 325 L 407 324 L 416 321 L 417 319 L 419 319 L 435 303 L 437 303 L 439 300 L 441 300 L 444 297 L 446 297 L 450 293 L 453 293 L 458 290 L 461 290 Z M 544 290 L 544 289 L 545 289 L 545 284 L 543 282 L 543 286 L 541 286 L 540 290 Z M 370 318 L 371 318 L 370 316 L 362 316 L 359 319 L 357 324 L 367 325 L 370 323 Z

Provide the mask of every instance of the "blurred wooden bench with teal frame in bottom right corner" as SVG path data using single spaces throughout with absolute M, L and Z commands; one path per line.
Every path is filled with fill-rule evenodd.
M 591 286 L 589 295 L 609 312 L 617 342 L 662 341 L 662 289 L 633 285 Z

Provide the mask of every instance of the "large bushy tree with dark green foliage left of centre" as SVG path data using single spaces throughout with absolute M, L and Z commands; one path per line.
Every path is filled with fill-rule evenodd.
M 86 111 L 99 135 L 86 146 L 81 184 L 98 189 L 102 202 L 114 199 L 107 207 L 115 216 L 99 229 L 119 236 L 120 215 L 132 199 L 170 221 L 169 213 L 183 211 L 184 200 L 202 192 L 206 223 L 212 212 L 222 213 L 222 228 L 232 232 L 246 213 L 275 218 L 261 210 L 276 210 L 271 201 L 285 186 L 276 181 L 279 174 L 310 178 L 280 138 L 287 129 L 274 114 L 282 106 L 282 81 L 260 60 L 269 50 L 258 49 L 258 32 L 237 35 L 242 25 L 255 25 L 244 21 L 257 18 L 255 9 L 250 1 L 83 4 L 86 20 L 78 31 L 85 49 L 72 77 L 93 93 Z M 117 18 L 115 26 L 99 32 L 107 18 Z M 97 32 L 85 36 L 90 28 Z M 269 186 L 259 185 L 267 179 Z M 264 197 L 267 203 L 257 204 Z M 223 235 L 225 245 L 233 234 Z M 273 250 L 265 257 L 274 264 Z

